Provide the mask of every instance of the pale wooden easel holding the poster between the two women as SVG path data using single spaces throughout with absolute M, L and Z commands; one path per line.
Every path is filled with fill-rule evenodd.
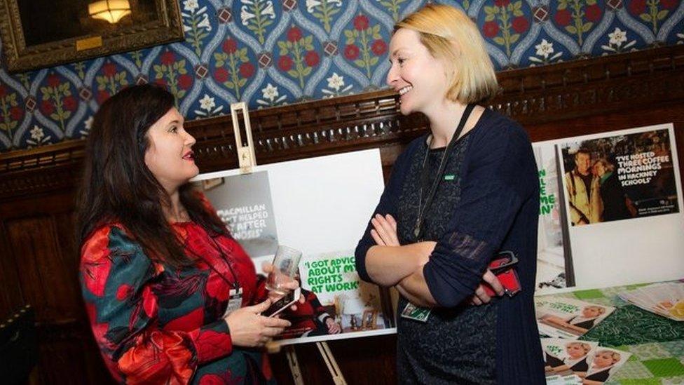
M 245 121 L 245 138 L 247 144 L 242 141 L 242 133 L 240 131 L 240 124 L 238 123 L 238 112 L 242 111 L 242 120 Z M 254 153 L 254 141 L 252 140 L 252 125 L 249 122 L 249 109 L 247 109 L 247 104 L 245 102 L 238 102 L 231 104 L 231 120 L 233 121 L 233 134 L 235 135 L 235 149 L 238 152 L 238 165 L 240 166 L 240 173 L 249 174 L 252 173 L 252 169 L 257 166 L 257 156 Z M 330 351 L 330 347 L 327 342 L 316 342 L 318 351 L 321 353 L 325 365 L 327 365 L 332 380 L 335 385 L 347 385 L 340 367 L 337 365 L 335 357 Z M 299 370 L 299 360 L 297 360 L 297 354 L 294 350 L 294 345 L 287 346 L 287 351 L 285 352 L 287 356 L 287 363 L 289 369 L 292 372 L 292 379 L 294 379 L 294 384 L 303 385 L 303 379 L 301 375 L 301 370 Z

